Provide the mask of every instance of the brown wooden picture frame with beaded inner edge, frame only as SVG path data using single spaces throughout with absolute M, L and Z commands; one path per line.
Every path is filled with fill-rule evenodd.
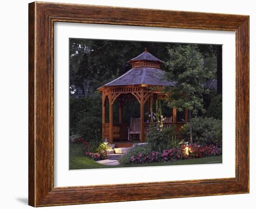
M 236 32 L 236 177 L 54 187 L 54 22 Z M 33 2 L 29 4 L 28 33 L 29 205 L 249 193 L 249 16 Z

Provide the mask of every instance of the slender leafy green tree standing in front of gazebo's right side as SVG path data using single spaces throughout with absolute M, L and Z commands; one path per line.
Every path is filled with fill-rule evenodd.
M 205 68 L 204 57 L 197 45 L 179 44 L 168 48 L 168 56 L 169 60 L 165 63 L 168 72 L 165 75 L 169 81 L 175 81 L 175 86 L 165 88 L 169 95 L 168 106 L 179 111 L 189 110 L 190 143 L 193 143 L 192 113 L 196 115 L 198 111 L 204 111 L 203 93 L 207 93 L 208 89 L 204 89 L 203 83 L 214 72 Z

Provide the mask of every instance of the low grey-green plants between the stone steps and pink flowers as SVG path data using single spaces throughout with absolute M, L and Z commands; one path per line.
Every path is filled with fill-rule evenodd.
M 119 163 L 121 165 L 131 164 L 131 157 L 137 156 L 139 154 L 147 156 L 150 155 L 151 152 L 151 146 L 149 146 L 148 144 L 141 146 L 135 145 L 135 147 L 130 148 L 128 152 L 119 159 Z

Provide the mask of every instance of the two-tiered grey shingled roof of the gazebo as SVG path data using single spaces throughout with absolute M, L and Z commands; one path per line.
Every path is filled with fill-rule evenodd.
M 136 63 L 139 61 L 139 64 Z M 164 71 L 159 69 L 163 63 L 160 59 L 150 54 L 147 49 L 139 56 L 131 59 L 128 63 L 132 64 L 133 68 L 126 73 L 116 78 L 115 80 L 106 83 L 103 87 L 124 86 L 124 85 L 152 85 L 152 86 L 174 86 L 175 82 L 167 81 L 164 76 Z

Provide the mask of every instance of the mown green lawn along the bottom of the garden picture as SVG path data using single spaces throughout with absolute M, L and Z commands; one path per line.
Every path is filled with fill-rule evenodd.
M 173 162 L 145 163 L 132 165 L 101 165 L 93 159 L 85 156 L 81 145 L 70 144 L 69 169 L 96 169 L 96 168 L 120 168 L 120 167 L 143 167 L 143 166 L 161 166 L 161 165 L 195 165 L 195 164 L 212 164 L 222 163 L 221 156 L 207 158 L 185 159 Z

